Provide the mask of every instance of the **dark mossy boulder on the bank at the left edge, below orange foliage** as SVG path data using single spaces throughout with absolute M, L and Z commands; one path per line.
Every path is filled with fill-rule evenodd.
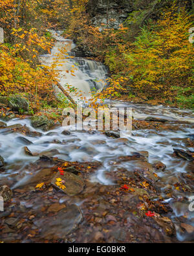
M 29 109 L 28 101 L 21 97 L 0 96 L 0 102 L 5 104 L 14 111 L 28 111 Z

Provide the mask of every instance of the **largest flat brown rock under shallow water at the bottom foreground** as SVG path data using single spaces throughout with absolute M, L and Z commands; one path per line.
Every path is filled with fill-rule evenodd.
M 43 216 L 34 224 L 40 229 L 43 239 L 65 239 L 76 229 L 81 220 L 83 220 L 81 210 L 73 204 L 61 209 L 54 217 Z

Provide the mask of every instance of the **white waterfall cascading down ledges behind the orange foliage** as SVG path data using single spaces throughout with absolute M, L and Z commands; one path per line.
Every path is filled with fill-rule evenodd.
M 52 48 L 51 54 L 45 54 L 40 57 L 42 64 L 50 65 L 54 60 L 54 56 L 60 49 L 67 49 L 67 54 L 61 57 L 64 63 L 61 63 L 57 69 L 59 70 L 59 83 L 64 89 L 67 85 L 75 87 L 83 97 L 91 97 L 91 91 L 100 91 L 105 86 L 105 79 L 107 78 L 107 68 L 100 62 L 94 60 L 86 60 L 83 58 L 72 58 L 70 52 L 76 45 L 68 39 L 60 36 L 61 32 L 49 30 L 52 36 L 57 40 Z M 64 57 L 64 58 L 63 58 Z M 71 73 L 70 71 L 73 71 Z M 68 89 L 67 89 L 68 91 Z M 76 99 L 76 93 L 70 93 Z

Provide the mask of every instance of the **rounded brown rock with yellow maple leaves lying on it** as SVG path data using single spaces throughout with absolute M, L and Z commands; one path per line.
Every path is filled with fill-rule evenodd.
M 62 184 L 65 185 L 65 189 L 61 189 L 58 185 L 56 185 L 57 178 L 61 178 Z M 69 196 L 75 196 L 76 194 L 80 194 L 80 192 L 83 191 L 84 181 L 81 176 L 77 176 L 73 173 L 64 172 L 62 176 L 58 172 L 52 179 L 52 185 Z

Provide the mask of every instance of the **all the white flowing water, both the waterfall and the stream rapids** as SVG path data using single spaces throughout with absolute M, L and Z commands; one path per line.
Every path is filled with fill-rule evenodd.
M 69 45 L 69 51 L 75 46 L 72 41 L 65 40 L 56 34 L 58 40 L 54 45 L 51 55 L 42 56 L 44 62 L 52 61 L 52 54 L 58 52 L 63 45 Z M 70 70 L 72 65 L 77 65 L 75 76 L 67 75 L 66 70 Z M 86 96 L 90 95 L 91 87 L 94 86 L 97 89 L 102 89 L 102 82 L 95 82 L 97 79 L 105 79 L 107 75 L 107 69 L 104 65 L 91 60 L 84 60 L 82 58 L 70 58 L 65 64 L 60 67 L 61 71 L 61 84 L 71 84 L 78 89 L 84 91 Z M 63 76 L 65 75 L 65 77 Z M 70 135 L 63 135 L 61 132 L 64 127 L 58 127 L 53 132 L 42 132 L 38 129 L 34 129 L 29 119 L 19 120 L 14 119 L 8 121 L 7 125 L 11 124 L 26 124 L 30 130 L 41 132 L 41 137 L 28 137 L 23 135 L 26 139 L 32 142 L 27 143 L 18 139 L 21 134 L 12 133 L 5 134 L 5 130 L 0 130 L 0 155 L 6 160 L 5 172 L 0 174 L 1 181 L 10 180 L 12 189 L 16 189 L 21 184 L 25 183 L 29 178 L 27 166 L 30 163 L 38 160 L 38 156 L 27 156 L 23 150 L 24 146 L 28 146 L 31 152 L 37 152 L 45 154 L 52 150 L 53 157 L 59 157 L 66 161 L 100 161 L 102 162 L 102 168 L 91 176 L 91 181 L 103 183 L 105 185 L 112 184 L 105 172 L 114 172 L 118 167 L 125 167 L 131 169 L 130 162 L 120 163 L 119 165 L 111 165 L 115 159 L 120 156 L 129 156 L 133 152 L 147 151 L 149 152 L 149 163 L 155 161 L 162 161 L 166 165 L 165 172 L 158 172 L 158 176 L 163 180 L 164 184 L 169 185 L 178 181 L 185 183 L 182 178 L 182 173 L 193 171 L 193 163 L 181 158 L 173 157 L 173 148 L 190 150 L 193 148 L 186 146 L 186 138 L 189 134 L 194 134 L 194 115 L 191 110 L 179 110 L 178 108 L 168 108 L 165 106 L 149 106 L 146 104 L 131 104 L 120 101 L 107 100 L 107 104 L 110 107 L 125 106 L 133 109 L 133 117 L 135 119 L 144 120 L 146 117 L 160 117 L 167 119 L 171 127 L 178 126 L 175 130 L 133 130 L 131 135 L 127 135 L 127 142 L 121 143 L 118 139 L 112 139 L 100 132 L 89 134 L 83 131 L 72 131 Z M 54 141 L 58 141 L 55 143 Z M 55 151 L 54 151 L 55 150 Z M 18 176 L 14 175 L 18 174 Z M 11 181 L 14 180 L 14 183 Z M 2 183 L 2 182 L 1 182 Z M 164 188 L 165 189 L 165 186 Z M 193 187 L 190 192 L 185 192 L 184 197 L 188 198 L 193 196 Z M 182 193 L 175 191 L 173 198 L 166 197 L 167 202 L 173 209 L 174 220 L 177 228 L 177 238 L 179 240 L 191 239 L 189 234 L 181 235 L 179 232 L 180 224 L 177 222 L 178 216 L 187 215 L 188 223 L 194 225 L 194 212 L 188 211 L 188 202 L 179 202 L 179 198 L 182 197 Z

